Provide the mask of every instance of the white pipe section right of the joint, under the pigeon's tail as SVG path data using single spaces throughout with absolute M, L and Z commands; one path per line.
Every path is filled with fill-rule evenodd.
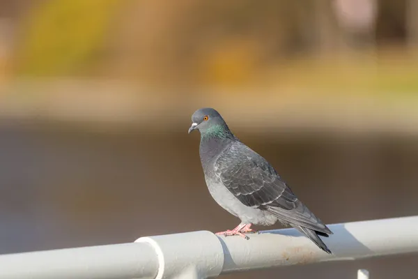
M 222 273 L 273 266 L 353 260 L 418 252 L 418 216 L 329 225 L 334 234 L 322 237 L 332 255 L 318 249 L 295 229 L 221 237 Z

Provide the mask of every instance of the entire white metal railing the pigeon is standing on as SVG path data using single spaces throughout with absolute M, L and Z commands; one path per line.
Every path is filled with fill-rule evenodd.
M 0 279 L 208 278 L 273 266 L 418 252 L 418 216 L 329 227 L 334 234 L 323 240 L 332 255 L 295 229 L 250 234 L 249 240 L 186 232 L 141 237 L 134 243 L 1 255 Z M 359 271 L 358 276 L 367 278 L 368 273 Z

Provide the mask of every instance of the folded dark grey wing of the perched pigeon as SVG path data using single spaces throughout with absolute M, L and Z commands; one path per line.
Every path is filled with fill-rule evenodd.
M 332 234 L 267 160 L 245 144 L 235 142 L 224 150 L 215 162 L 215 174 L 242 204 L 268 211 L 287 223 Z

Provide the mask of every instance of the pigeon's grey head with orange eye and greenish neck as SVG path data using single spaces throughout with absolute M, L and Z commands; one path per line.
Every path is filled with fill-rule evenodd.
M 189 133 L 192 133 L 194 130 L 199 130 L 201 135 L 231 135 L 231 131 L 221 114 L 210 107 L 205 107 L 194 112 Z

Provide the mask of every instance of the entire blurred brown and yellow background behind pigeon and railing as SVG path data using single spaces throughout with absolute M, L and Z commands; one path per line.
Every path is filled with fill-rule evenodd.
M 187 135 L 200 107 L 325 223 L 418 213 L 418 1 L 0 0 L 0 253 L 235 227 Z

